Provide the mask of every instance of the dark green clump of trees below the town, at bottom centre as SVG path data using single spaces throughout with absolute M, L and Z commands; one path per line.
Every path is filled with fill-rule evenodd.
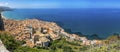
M 70 43 L 63 38 L 61 40 L 51 42 L 50 48 L 55 51 L 62 50 L 62 52 L 74 52 L 74 46 L 78 46 L 78 44 L 76 43 L 75 45 L 75 42 Z

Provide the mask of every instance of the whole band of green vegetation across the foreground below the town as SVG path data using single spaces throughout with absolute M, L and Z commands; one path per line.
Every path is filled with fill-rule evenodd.
M 5 47 L 12 52 L 119 52 L 120 40 L 117 36 L 111 36 L 103 40 L 103 45 L 81 46 L 78 41 L 66 41 L 65 38 L 55 40 L 50 43 L 49 47 L 21 46 L 24 41 L 17 41 L 8 33 L 0 33 L 0 39 Z

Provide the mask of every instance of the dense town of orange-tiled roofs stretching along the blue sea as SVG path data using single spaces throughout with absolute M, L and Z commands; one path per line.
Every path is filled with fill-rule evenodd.
M 46 22 L 37 19 L 28 20 L 3 20 L 5 31 L 15 36 L 17 40 L 24 40 L 23 46 L 49 46 L 50 41 L 62 37 L 68 41 L 82 41 L 82 45 L 99 44 L 100 40 L 88 40 L 76 34 L 69 34 L 54 22 Z

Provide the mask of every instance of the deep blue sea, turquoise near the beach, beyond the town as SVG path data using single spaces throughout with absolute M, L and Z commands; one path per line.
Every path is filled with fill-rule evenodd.
M 3 15 L 15 20 L 53 21 L 62 28 L 71 30 L 72 33 L 97 34 L 101 38 L 120 33 L 120 9 L 15 9 L 3 12 Z

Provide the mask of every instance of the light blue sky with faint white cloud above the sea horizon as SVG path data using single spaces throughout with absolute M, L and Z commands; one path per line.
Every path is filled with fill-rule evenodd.
M 11 8 L 120 8 L 120 0 L 0 0 Z

